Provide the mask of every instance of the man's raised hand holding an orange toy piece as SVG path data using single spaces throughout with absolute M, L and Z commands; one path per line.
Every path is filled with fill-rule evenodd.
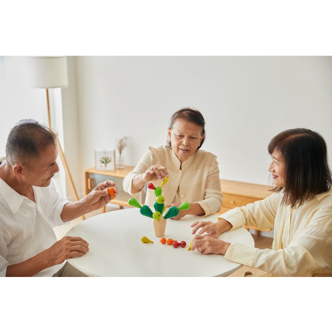
M 114 198 L 118 195 L 118 188 L 115 186 L 115 182 L 107 180 L 100 183 L 90 194 L 88 194 L 84 199 L 84 204 L 91 211 L 98 210 L 104 207 L 112 199 L 109 194 L 108 189 L 114 187 Z

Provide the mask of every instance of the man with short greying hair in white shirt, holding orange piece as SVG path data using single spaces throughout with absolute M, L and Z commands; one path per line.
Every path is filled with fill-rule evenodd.
M 115 183 L 69 202 L 51 180 L 56 157 L 56 136 L 45 125 L 22 120 L 11 129 L 0 165 L 0 276 L 85 276 L 65 260 L 83 256 L 89 244 L 72 236 L 57 241 L 53 227 L 105 206 Z

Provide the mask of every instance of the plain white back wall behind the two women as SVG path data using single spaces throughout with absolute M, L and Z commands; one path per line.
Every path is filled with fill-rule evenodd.
M 268 142 L 294 127 L 320 132 L 332 159 L 332 57 L 80 56 L 76 70 L 82 172 L 125 135 L 135 165 L 186 106 L 206 119 L 221 178 L 268 184 Z

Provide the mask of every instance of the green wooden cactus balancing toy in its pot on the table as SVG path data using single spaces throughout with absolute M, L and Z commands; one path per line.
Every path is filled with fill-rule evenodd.
M 165 198 L 162 196 L 162 187 L 168 182 L 168 177 L 165 176 L 165 180 L 161 182 L 160 187 L 155 187 L 152 183 L 148 184 L 148 188 L 154 191 L 156 201 L 153 204 L 155 212 L 152 212 L 147 205 L 141 206 L 134 198 L 130 198 L 128 204 L 132 207 L 138 207 L 139 212 L 149 218 L 153 218 L 154 234 L 157 237 L 162 237 L 165 234 L 166 219 L 176 217 L 181 210 L 188 210 L 190 204 L 183 202 L 179 207 L 171 207 L 163 216 L 166 205 Z

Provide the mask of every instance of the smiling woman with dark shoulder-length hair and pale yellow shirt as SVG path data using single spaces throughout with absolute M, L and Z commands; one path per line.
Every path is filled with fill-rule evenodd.
M 268 198 L 236 207 L 216 223 L 195 222 L 192 250 L 266 272 L 266 276 L 312 276 L 332 272 L 332 177 L 324 138 L 309 129 L 283 131 L 269 143 L 275 188 Z M 273 228 L 271 249 L 217 239 L 243 225 Z

